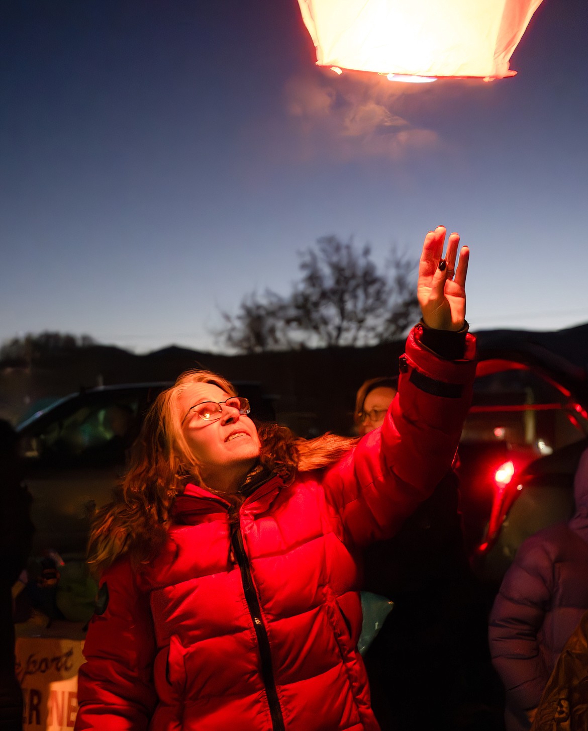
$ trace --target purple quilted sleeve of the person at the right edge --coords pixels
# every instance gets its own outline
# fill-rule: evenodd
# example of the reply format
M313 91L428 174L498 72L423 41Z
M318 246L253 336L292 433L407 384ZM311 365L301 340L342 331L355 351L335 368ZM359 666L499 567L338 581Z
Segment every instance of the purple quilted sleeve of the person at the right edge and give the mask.
M503 681L506 702L513 713L536 708L549 680L538 632L555 591L553 567L549 542L541 535L524 541L505 573L490 613L492 664Z

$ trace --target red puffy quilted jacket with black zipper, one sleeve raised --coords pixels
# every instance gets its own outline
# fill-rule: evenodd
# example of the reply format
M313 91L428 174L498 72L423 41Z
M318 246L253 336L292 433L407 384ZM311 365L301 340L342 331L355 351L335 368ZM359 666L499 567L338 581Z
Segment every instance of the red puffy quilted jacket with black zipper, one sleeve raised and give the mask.
M234 523L223 499L188 485L156 561L104 572L77 731L378 729L356 649L357 552L451 466L474 372L424 349L420 332L386 422L343 460L288 486L270 476Z

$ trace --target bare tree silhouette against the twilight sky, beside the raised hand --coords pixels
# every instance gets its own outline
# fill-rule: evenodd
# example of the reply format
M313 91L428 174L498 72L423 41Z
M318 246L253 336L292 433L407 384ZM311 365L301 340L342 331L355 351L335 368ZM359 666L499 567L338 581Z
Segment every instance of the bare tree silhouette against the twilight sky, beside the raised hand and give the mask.
M319 238L300 252L302 278L290 295L271 289L245 295L237 314L222 311L215 332L238 352L369 346L402 336L418 317L416 260L392 248L382 270L370 246Z

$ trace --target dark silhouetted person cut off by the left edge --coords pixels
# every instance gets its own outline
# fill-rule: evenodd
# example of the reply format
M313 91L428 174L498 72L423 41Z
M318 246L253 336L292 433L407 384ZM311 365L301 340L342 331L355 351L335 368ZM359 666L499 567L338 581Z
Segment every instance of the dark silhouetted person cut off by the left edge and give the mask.
M15 676L15 629L12 586L26 567L33 524L31 496L23 485L18 455L18 435L0 420L0 731L21 731L23 694Z

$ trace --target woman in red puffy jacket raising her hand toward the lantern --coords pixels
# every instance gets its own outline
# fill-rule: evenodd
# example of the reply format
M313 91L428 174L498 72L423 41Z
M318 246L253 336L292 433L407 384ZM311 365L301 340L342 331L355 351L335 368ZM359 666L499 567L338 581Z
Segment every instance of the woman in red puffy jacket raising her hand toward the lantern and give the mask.
M101 577L78 731L375 730L359 550L394 534L454 458L470 402L463 247L438 227L399 392L364 439L256 426L220 376L183 374L150 410L97 516ZM402 702L399 699L399 702Z

